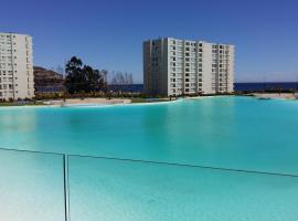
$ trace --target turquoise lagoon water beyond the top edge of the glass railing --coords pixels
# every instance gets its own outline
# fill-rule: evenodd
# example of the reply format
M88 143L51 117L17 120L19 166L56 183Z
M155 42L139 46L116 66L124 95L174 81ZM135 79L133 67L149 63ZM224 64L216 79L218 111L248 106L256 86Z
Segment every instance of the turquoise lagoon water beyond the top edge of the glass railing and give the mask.
M0 109L0 147L298 175L298 102Z

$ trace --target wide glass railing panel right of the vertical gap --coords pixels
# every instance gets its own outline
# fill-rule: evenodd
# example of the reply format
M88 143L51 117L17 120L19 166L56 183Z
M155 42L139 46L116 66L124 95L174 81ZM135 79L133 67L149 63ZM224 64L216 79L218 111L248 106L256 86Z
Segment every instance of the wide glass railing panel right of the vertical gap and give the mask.
M294 221L298 178L70 157L72 221Z

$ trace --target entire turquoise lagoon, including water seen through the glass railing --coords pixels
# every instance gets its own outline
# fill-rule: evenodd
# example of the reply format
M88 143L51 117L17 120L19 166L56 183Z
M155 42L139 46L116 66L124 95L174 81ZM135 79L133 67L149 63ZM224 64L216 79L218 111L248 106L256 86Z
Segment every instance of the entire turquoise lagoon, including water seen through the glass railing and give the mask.
M298 220L297 113L251 97L1 108L0 148L289 175L71 156L74 221ZM0 218L64 220L61 156L0 150Z

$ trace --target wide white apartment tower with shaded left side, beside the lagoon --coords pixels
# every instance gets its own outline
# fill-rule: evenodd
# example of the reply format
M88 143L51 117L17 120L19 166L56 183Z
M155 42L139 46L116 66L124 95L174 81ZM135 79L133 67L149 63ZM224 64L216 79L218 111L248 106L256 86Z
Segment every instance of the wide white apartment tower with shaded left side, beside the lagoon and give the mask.
M162 38L143 42L143 90L149 95L232 93L234 45Z

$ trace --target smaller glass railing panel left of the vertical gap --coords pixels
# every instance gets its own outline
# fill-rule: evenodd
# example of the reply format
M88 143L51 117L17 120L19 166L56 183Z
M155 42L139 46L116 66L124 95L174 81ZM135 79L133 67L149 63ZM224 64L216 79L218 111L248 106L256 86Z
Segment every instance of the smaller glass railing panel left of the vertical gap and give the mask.
M63 156L0 150L0 220L64 221Z

